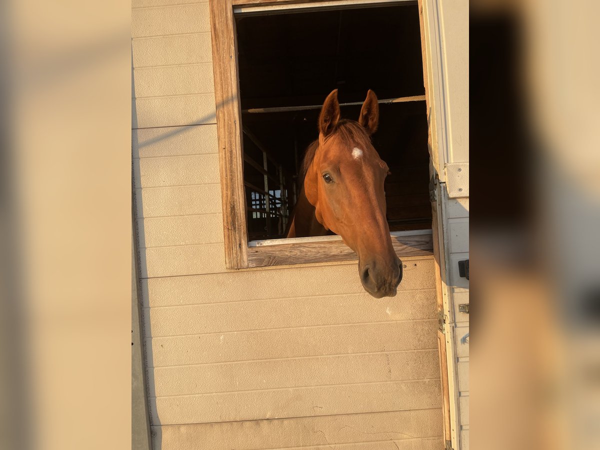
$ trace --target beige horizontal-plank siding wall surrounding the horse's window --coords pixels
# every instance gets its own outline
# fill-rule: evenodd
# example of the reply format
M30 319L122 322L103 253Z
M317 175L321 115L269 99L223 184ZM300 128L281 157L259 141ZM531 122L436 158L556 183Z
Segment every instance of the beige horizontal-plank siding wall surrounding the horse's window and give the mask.
M228 271L208 3L133 0L133 157L155 449L439 449L433 257ZM276 419L277 420L273 420Z

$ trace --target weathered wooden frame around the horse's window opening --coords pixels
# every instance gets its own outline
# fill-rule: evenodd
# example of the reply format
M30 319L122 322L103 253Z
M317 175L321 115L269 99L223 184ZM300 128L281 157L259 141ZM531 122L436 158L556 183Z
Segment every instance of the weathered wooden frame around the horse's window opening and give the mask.
M410 1L410 0L404 0ZM238 45L234 8L268 7L303 10L400 3L402 0L210 0L212 64L215 83L217 136L227 269L356 260L340 236L272 239L248 242L244 193L244 158L239 98ZM419 10L421 8L419 7ZM427 86L425 86L427 92ZM432 230L391 233L399 257L433 254Z

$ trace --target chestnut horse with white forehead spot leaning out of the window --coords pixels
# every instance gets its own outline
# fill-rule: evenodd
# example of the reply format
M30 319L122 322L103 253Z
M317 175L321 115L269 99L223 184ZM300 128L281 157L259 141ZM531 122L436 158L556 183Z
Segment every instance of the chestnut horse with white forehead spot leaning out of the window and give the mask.
M369 89L358 122L341 119L337 89L323 103L319 139L302 161L300 190L288 238L330 231L358 255L364 289L375 298L396 295L402 280L389 234L383 182L388 165L371 143L379 124L377 96Z

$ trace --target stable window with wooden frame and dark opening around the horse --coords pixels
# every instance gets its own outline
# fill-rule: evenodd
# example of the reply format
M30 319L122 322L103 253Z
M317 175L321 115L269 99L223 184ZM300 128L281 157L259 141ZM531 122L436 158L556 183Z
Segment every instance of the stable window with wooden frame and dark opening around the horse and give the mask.
M211 2L228 268L355 259L340 236L284 239L323 100L358 119L379 98L373 145L388 163L399 256L432 253L419 8L413 1Z

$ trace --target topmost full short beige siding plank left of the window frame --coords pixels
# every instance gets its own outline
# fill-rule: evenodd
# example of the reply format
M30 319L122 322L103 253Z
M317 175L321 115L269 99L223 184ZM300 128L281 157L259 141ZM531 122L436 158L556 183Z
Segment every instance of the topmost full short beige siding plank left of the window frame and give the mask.
M208 3L131 11L131 36L148 37L211 31Z

